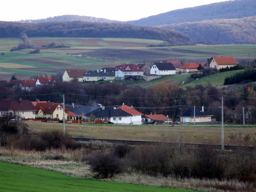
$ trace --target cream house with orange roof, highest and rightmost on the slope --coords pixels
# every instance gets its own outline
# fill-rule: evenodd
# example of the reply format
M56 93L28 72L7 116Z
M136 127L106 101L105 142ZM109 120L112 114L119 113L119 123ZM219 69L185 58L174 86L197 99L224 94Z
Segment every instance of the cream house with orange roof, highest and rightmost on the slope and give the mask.
M210 68L226 68L226 67L234 67L237 65L236 59L234 57L212 57L208 62L208 66Z

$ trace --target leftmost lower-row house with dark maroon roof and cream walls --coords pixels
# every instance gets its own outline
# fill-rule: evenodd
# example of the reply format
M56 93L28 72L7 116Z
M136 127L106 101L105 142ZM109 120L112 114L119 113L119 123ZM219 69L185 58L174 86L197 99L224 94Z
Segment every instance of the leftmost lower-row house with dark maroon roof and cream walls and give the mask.
M36 109L29 100L0 100L0 116L4 113L11 113L20 118L35 118Z

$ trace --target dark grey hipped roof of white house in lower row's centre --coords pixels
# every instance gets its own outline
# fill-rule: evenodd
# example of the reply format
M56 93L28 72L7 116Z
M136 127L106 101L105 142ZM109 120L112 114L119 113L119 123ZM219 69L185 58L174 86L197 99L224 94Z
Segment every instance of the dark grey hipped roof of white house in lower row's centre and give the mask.
M86 114L86 116L90 116L93 114L95 118L110 118L110 117L126 117L130 116L130 114L126 113L121 109L114 109L113 107L105 107L102 109L101 107Z

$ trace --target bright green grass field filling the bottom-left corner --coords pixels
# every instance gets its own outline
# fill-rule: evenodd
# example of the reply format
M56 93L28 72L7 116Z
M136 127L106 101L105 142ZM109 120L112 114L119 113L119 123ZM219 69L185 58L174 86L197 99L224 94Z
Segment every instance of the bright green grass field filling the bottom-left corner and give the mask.
M190 192L178 190L85 180L68 177L60 173L38 170L25 166L0 163L0 191L10 192Z

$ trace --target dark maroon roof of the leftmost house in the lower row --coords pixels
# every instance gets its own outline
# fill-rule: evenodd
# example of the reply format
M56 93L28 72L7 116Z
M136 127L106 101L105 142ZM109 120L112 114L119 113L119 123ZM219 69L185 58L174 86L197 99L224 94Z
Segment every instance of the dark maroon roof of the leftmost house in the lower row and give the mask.
M29 100L0 100L0 111L35 111L33 104Z

